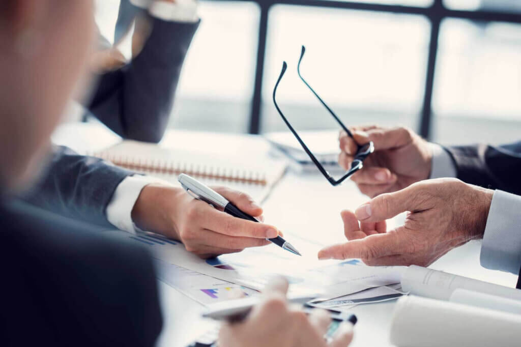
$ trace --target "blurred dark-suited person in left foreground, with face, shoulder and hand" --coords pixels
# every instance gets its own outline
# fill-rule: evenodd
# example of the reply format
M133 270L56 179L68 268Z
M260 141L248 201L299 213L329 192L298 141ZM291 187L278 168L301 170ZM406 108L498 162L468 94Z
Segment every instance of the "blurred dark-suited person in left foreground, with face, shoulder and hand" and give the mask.
M43 164L94 32L91 1L0 3L0 262L3 345L152 346L162 327L151 258L141 247L17 201ZM57 58L59 57L59 58ZM221 346L326 346L329 317L307 317L275 281ZM339 330L330 344L348 345Z

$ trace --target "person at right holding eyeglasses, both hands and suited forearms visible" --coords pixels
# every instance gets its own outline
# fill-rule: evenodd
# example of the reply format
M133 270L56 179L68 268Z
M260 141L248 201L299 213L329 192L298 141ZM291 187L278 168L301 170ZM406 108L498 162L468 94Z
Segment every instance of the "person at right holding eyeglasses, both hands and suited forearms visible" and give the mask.
M482 239L483 267L521 275L521 142L442 147L407 128L352 132L353 138L340 133L339 163L350 167L357 143L374 142L375 153L352 176L373 199L342 212L349 242L322 249L319 258L428 266ZM385 220L402 212L404 225L387 230Z

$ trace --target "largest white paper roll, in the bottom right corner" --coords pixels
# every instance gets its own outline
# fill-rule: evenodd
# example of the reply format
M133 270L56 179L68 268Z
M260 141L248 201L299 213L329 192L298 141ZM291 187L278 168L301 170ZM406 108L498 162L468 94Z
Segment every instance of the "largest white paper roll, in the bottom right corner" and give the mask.
M519 315L411 295L396 303L390 340L399 347L514 346L520 327Z

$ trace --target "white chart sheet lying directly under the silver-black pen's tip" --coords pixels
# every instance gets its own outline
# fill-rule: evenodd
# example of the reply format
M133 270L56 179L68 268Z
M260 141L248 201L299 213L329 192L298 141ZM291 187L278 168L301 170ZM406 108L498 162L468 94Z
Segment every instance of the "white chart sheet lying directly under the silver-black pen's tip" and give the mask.
M328 300L397 283L400 278L396 268L365 266L357 260L324 265L316 258L314 262L309 262L276 245L201 259L186 251L180 242L156 234L138 233L134 236L120 232L119 235L148 247L153 257L167 264L256 290L262 290L270 278L279 275L290 282L292 295L318 296L322 300Z

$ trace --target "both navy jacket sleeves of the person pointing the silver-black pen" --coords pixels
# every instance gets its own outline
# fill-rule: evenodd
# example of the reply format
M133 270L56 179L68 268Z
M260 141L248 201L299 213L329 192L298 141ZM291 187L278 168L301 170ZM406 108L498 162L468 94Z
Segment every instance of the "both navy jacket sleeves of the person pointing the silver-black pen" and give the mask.
M92 114L125 139L158 142L198 26L199 22L153 19L141 53L127 66L100 77L87 105ZM129 175L131 171L58 147L47 175L23 199L70 218L110 226L105 209L118 184Z

